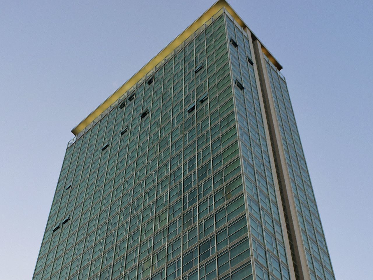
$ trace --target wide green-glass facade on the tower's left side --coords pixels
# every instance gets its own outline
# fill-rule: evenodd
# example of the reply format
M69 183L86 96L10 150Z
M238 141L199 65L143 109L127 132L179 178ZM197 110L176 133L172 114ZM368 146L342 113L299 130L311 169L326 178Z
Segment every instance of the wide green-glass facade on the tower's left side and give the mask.
M67 149L33 279L251 277L227 45L222 15Z

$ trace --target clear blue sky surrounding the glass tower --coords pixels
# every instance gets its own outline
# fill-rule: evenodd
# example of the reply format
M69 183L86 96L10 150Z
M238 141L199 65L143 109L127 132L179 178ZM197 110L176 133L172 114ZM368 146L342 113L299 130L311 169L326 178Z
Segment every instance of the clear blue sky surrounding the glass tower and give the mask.
M338 280L373 264L373 2L229 1L284 67ZM31 279L70 130L214 0L0 9L0 279Z

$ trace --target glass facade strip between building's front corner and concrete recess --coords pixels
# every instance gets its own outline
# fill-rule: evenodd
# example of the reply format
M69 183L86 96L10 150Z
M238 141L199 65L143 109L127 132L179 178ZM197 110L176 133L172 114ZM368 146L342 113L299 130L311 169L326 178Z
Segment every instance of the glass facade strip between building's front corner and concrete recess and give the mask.
M227 18L229 53L233 81L244 86L234 87L239 143L249 210L250 238L255 260L256 279L290 279L283 238L278 197L269 157L269 149L260 106L251 38Z

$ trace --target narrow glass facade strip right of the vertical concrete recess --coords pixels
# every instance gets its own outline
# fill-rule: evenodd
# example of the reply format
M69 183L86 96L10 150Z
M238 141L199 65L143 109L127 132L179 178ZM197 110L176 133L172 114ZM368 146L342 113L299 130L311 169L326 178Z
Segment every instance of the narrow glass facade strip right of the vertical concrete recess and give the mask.
M268 59L266 67L311 279L334 280L332 263L285 78L276 71Z

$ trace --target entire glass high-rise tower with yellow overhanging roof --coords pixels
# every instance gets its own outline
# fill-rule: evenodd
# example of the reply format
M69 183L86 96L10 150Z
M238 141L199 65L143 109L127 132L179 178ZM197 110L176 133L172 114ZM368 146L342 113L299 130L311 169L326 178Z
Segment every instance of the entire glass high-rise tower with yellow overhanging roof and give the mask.
M72 130L33 279L335 279L281 69L215 3Z

